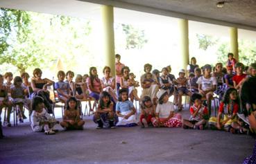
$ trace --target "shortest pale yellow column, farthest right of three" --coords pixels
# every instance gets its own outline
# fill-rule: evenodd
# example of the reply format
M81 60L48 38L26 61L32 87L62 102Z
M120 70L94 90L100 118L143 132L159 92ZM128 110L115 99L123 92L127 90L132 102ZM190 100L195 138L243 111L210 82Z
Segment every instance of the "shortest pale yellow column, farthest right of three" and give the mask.
M234 54L234 58L239 61L237 28L230 27L230 51Z

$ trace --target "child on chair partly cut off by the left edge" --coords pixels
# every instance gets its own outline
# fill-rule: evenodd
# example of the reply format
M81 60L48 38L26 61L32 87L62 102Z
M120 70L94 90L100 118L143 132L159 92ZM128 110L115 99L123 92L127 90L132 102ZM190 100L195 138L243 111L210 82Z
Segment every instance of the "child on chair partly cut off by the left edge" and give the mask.
M8 127L11 127L10 124L10 111L12 110L12 102L8 99L7 87L3 85L3 75L0 74L0 117L3 107L7 107L7 118L3 120L7 123Z

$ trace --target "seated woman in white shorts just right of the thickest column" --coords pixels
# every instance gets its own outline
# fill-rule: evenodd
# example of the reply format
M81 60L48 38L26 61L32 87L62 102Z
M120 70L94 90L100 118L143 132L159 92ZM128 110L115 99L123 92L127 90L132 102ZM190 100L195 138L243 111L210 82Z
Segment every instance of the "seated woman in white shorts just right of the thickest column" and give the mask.
M123 73L123 77L121 77L120 85L121 89L128 89L128 97L133 102L134 98L135 100L140 100L139 96L137 95L137 89L135 89L135 86L133 83L131 83L129 80L129 73L130 69L128 66L123 66L123 69L121 70Z

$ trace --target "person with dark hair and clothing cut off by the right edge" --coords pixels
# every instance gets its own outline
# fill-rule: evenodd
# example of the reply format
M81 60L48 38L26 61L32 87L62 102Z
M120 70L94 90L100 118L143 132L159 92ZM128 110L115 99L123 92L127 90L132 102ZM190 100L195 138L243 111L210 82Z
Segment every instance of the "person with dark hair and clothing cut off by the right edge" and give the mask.
M256 69L256 68L255 68ZM250 128L256 131L256 77L248 78L241 86L241 102L245 116L248 116ZM244 164L256 163L256 140L253 155L244 160Z

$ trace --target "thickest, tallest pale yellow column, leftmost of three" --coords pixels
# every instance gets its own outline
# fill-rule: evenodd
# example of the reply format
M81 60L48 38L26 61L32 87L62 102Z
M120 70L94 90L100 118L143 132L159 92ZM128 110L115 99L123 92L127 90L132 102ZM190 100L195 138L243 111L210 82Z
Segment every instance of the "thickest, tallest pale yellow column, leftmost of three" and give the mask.
M115 73L114 57L114 12L113 6L101 6L101 18L103 23L103 55L105 65L110 66L112 76Z

